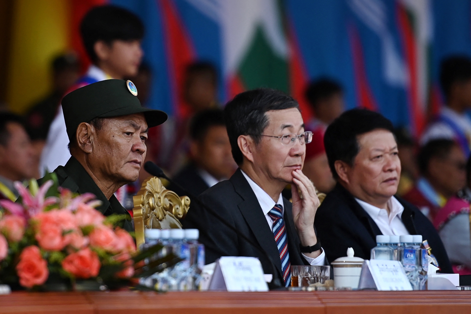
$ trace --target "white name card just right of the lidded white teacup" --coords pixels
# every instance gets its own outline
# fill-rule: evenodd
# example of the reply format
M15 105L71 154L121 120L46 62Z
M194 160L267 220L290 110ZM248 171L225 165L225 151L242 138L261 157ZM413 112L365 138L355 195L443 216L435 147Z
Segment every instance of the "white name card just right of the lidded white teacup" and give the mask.
M399 261L372 259L363 262L358 289L412 290Z

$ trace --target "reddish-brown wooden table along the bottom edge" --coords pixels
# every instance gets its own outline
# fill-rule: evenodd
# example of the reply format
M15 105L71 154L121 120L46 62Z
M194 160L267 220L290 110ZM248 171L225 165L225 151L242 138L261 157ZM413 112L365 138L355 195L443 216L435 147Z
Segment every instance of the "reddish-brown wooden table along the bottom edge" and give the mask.
M471 313L471 291L14 292L4 313L455 314Z

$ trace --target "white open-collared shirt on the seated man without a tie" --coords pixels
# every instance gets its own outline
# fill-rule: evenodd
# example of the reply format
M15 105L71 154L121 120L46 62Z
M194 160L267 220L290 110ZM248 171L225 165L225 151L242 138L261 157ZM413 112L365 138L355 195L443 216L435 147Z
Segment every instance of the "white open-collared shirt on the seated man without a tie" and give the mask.
M368 204L358 198L355 198L365 212L373 218L373 221L378 225L382 234L384 235L404 235L409 234L406 226L402 223L401 215L404 211L404 206L393 196L389 199L387 206L390 209L390 214L384 208L379 208Z

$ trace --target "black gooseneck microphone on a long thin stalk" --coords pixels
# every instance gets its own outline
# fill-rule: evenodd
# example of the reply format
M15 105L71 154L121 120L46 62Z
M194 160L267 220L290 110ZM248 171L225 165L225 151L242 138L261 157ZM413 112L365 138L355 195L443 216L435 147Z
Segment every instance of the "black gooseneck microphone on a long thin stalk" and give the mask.
M174 182L172 179L170 179L164 172L163 170L158 166L155 165L152 161L147 161L144 164L144 170L146 170L149 174L152 174L156 177L164 178L177 186L180 190L185 192L189 198L194 200L199 206L203 207L205 210L207 210L211 215L216 217L222 224L224 224L227 228L230 230L234 231L239 237L247 241L248 243L252 244L252 246L260 251L265 257L268 258L268 261L270 262L272 268L273 268L273 277L271 283L276 287L276 288L281 288L284 287L284 284L282 285L278 276L275 274L276 272L276 265L273 262L271 256L268 255L267 251L265 248L263 248L258 242L254 242L251 239L249 239L244 233L240 232L237 228L235 228L232 224L230 224L226 219L224 219L221 215L219 215L218 212L213 210L211 207L206 206L202 201L200 201L193 193L190 193L187 189L183 188L181 185L179 185L177 182ZM200 226L202 227L202 226ZM202 227L200 230L205 230L205 227Z

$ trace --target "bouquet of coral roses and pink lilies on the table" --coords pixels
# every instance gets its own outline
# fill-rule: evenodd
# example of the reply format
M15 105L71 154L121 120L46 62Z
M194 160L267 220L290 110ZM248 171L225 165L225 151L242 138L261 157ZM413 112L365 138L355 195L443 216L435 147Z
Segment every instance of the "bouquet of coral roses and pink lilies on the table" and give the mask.
M69 287L77 280L129 285L139 259L130 233L115 226L123 217L105 217L94 195L73 195L55 180L15 187L20 201L0 200L0 283L38 289L54 278Z

